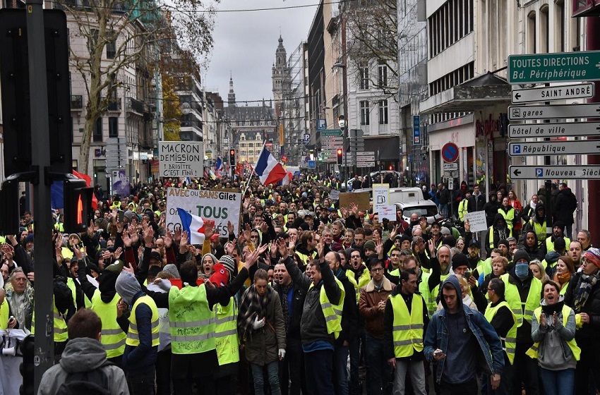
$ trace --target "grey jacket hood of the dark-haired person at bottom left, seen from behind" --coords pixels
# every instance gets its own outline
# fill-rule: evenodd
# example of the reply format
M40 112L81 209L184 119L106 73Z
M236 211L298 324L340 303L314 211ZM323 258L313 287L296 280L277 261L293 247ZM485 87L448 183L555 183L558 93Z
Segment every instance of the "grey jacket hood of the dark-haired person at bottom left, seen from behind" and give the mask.
M80 337L68 341L61 358L61 367L68 373L95 370L107 358L107 352L100 341Z

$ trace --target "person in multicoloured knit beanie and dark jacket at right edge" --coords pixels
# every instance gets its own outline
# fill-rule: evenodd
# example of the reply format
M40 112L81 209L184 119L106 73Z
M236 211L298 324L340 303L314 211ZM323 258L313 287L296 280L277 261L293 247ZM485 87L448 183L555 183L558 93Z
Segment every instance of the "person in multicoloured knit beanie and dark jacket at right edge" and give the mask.
M581 348L575 368L574 394L588 394L590 378L600 377L600 250L589 248L582 257L582 269L572 275L565 293L565 305L575 310L575 342ZM590 372L592 374L590 375Z

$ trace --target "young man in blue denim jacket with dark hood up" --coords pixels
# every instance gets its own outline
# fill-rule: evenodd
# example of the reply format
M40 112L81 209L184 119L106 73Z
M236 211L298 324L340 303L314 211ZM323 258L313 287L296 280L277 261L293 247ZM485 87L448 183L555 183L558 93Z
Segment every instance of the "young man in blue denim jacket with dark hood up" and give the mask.
M450 276L441 286L443 310L436 312L425 335L425 356L437 363L440 395L476 395L477 372L491 376L491 389L500 384L504 367L502 343L480 312L462 304L460 285ZM479 361L484 361L479 364Z

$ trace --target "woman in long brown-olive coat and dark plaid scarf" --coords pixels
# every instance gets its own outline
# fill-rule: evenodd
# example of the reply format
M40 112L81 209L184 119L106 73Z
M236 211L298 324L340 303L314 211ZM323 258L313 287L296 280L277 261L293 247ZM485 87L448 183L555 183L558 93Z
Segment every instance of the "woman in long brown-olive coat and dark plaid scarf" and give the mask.
M265 394L266 370L272 395L280 395L279 361L285 357L285 325L277 291L269 286L264 269L254 274L254 284L244 291L238 313L241 345L246 352L254 393Z

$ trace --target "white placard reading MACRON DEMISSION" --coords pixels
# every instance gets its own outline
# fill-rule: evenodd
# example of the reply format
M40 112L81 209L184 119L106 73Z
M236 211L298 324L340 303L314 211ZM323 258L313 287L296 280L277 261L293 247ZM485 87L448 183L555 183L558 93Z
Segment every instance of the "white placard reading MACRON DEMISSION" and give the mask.
M161 177L202 177L203 148L198 141L159 141Z

